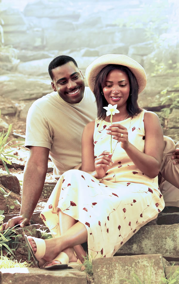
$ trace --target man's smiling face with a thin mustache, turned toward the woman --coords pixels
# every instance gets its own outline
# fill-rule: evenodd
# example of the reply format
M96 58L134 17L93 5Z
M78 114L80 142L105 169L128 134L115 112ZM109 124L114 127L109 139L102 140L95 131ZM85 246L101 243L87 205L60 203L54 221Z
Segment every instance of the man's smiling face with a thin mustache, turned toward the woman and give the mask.
M84 77L81 71L70 61L52 70L53 91L67 103L79 103L84 96Z

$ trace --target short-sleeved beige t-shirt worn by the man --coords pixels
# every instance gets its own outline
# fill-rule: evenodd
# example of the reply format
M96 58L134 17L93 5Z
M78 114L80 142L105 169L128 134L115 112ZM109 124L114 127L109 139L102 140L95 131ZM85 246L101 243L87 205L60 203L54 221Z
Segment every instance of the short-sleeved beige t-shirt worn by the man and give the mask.
M36 100L26 121L25 147L50 149L53 174L59 178L65 171L81 163L81 135L84 126L96 118L94 94L85 87L80 103L66 103L57 92Z

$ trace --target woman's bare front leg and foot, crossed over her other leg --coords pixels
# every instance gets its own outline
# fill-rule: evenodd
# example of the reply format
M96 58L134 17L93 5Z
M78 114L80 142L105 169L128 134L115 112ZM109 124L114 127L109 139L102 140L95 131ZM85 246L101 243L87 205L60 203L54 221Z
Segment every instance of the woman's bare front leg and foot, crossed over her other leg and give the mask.
M73 219L73 218L72 218ZM76 220L73 219L75 222ZM71 220L72 221L72 220ZM28 237L33 251L36 252L36 243L29 236ZM87 241L87 229L81 223L77 222L70 227L62 236L45 240L46 251L43 259L47 262L55 259L55 257L67 248L72 248Z

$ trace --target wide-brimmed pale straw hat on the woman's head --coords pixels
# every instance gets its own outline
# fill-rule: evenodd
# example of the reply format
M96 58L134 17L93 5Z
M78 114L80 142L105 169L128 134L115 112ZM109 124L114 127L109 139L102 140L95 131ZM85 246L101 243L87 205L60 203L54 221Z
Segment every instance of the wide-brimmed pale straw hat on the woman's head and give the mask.
M137 61L123 54L105 54L95 59L86 69L85 77L92 92L94 91L96 76L108 64L127 66L137 79L139 85L138 94L143 91L147 83L147 76L145 70Z

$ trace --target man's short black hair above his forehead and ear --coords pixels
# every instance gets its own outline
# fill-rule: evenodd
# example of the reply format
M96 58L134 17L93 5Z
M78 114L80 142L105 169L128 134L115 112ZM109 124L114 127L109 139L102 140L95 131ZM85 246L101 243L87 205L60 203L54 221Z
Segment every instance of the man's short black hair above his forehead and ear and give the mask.
M64 64L66 64L70 61L72 61L75 64L75 66L78 68L78 65L77 65L75 59L73 59L71 56L59 55L59 56L55 57L50 62L49 67L48 67L50 78L53 80L53 72L52 72L53 69L57 68L58 66L64 65Z

